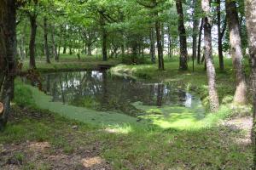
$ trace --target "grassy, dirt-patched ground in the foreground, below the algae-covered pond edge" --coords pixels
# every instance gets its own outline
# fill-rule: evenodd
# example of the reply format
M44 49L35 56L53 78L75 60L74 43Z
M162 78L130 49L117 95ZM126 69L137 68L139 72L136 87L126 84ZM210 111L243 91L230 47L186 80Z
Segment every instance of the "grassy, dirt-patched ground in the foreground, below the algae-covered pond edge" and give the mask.
M252 169L250 118L197 131L115 133L15 107L0 136L9 169Z

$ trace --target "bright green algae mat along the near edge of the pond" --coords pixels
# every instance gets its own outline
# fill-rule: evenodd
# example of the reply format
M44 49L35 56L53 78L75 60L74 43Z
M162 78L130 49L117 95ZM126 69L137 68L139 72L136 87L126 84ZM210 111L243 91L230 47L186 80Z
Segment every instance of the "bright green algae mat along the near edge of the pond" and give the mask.
M34 104L43 110L48 110L77 120L79 122L89 123L92 126L97 127L113 127L120 133L128 133L132 128L142 127L150 128L159 127L160 129L176 128L176 129L189 129L196 130L204 127L212 127L219 120L224 119L230 115L230 110L227 107L223 107L218 113L209 113L207 116L203 116L201 109L187 109L176 107L164 107L160 109L160 113L153 113L150 111L156 110L154 106L140 105L135 103L138 109L145 111L145 115L137 117L127 116L115 111L94 111L84 107L77 107L73 105L63 105L61 102L52 102L51 96L40 92L38 88L33 88L30 85L18 84L18 87L26 88L31 91ZM178 112L178 111L182 112ZM149 112L148 112L149 111ZM161 113L161 111L163 111ZM148 114L149 113L149 114ZM138 120L140 120L138 122Z

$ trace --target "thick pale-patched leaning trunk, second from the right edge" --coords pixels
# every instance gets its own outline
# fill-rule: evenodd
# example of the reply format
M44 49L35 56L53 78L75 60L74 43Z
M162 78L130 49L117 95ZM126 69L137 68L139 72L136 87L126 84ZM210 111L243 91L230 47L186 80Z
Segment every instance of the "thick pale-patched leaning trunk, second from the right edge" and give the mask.
M234 102L243 105L247 102L247 85L242 65L241 36L236 1L226 0L226 13L230 30L230 52L236 74L236 94Z

